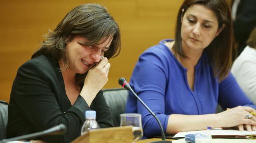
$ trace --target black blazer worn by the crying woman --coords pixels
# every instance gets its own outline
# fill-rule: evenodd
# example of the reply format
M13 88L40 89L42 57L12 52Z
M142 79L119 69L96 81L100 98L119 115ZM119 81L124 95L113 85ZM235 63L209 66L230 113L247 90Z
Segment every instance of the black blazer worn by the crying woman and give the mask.
M58 136L33 138L47 142L71 142L80 135L86 110L96 110L101 128L112 127L113 121L100 91L91 106L79 96L71 105L58 62L41 55L24 63L13 82L7 137L34 133L63 123L67 133Z

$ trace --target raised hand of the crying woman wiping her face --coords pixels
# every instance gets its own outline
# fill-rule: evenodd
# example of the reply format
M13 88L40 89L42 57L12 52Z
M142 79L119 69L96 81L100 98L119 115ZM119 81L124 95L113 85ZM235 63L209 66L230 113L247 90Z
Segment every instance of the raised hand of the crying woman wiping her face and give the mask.
M97 93L107 83L110 66L111 64L108 62L108 59L104 57L99 64L88 71L80 95L86 100L89 106Z

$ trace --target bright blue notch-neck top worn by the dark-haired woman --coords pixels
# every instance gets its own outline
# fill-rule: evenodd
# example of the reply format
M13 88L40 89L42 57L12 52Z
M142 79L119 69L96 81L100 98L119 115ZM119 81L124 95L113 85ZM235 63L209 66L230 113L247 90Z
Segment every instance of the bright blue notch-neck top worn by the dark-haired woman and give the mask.
M187 81L187 69L176 59L162 40L147 49L139 58L130 85L157 115L166 132L170 114L200 115L238 105L251 106L252 101L243 93L230 73L222 82L214 77L207 54L203 53L195 66L194 91ZM140 113L144 136L160 135L160 127L154 117L129 93L126 113Z

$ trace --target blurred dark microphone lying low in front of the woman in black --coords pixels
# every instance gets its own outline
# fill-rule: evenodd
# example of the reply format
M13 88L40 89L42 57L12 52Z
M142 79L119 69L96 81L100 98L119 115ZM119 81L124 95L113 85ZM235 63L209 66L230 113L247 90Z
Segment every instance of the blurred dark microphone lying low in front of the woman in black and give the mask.
M18 137L13 137L13 138L8 138L8 139L3 139L3 140L0 140L0 143L15 141L15 140L16 141L23 140L23 139L27 139L27 138L34 138L34 137L43 136L43 135L62 135L66 132L67 132L67 127L64 124L59 124L57 126L54 126L47 130L44 130L44 131L31 133L31 134L27 134L27 135L22 135L22 136L18 136Z

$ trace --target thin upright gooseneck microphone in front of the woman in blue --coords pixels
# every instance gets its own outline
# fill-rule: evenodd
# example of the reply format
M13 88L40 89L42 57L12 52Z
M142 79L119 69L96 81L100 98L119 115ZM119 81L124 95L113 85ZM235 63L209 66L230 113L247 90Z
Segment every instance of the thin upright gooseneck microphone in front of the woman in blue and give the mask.
M156 114L141 100L141 98L134 92L134 90L131 88L131 86L129 85L129 83L126 81L125 78L121 77L119 79L119 84L124 87L125 89L127 89L128 91L132 92L135 97L141 102L141 104L150 112L150 114L157 120L158 125L160 126L161 129L161 136L162 136L162 140L161 141L154 141L154 143L164 143L164 142L172 142L172 141L167 141L165 139L165 133L164 133L164 129L162 124L160 123L159 119L157 118ZM152 142L153 143L153 142Z

